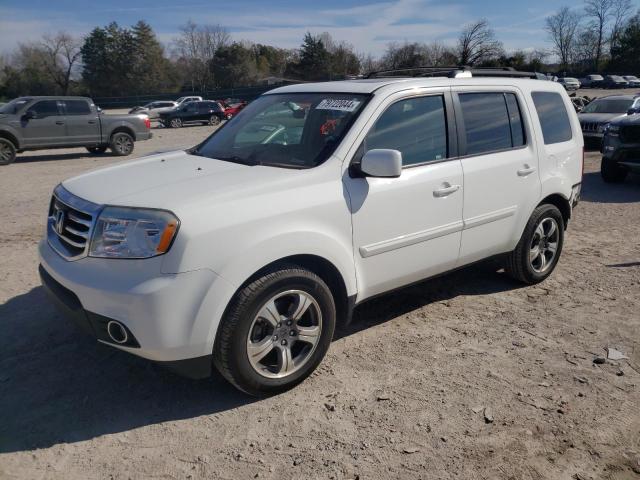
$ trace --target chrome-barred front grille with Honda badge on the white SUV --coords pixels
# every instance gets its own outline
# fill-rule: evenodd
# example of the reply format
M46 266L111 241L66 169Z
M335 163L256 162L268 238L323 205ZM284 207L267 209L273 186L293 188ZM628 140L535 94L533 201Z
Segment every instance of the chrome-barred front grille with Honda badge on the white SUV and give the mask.
M69 193L62 185L53 192L47 221L49 245L67 260L88 254L95 219L101 206Z

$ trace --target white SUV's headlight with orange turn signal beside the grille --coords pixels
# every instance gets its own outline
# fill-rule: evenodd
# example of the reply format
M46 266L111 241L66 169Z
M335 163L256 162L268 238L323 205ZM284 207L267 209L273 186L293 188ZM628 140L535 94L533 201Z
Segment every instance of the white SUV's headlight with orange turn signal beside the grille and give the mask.
M166 210L106 207L91 237L90 257L149 258L169 250L180 221Z

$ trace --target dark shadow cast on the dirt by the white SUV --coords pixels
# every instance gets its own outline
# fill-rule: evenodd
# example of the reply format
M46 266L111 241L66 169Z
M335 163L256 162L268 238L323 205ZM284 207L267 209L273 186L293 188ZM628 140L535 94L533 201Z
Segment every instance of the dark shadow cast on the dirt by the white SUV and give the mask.
M431 302L518 286L495 264L478 264L366 302L337 336ZM217 374L184 379L96 343L57 313L41 287L0 305L0 319L0 452L73 443L256 401Z

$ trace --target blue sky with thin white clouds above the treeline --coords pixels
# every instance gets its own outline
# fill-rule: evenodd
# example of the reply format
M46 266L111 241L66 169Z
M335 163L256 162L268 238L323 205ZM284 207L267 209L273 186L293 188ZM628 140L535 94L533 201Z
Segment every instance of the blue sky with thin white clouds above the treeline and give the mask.
M580 0L0 0L0 51L44 33L76 35L112 20L151 24L167 45L192 19L221 24L234 39L296 47L304 33L329 32L356 50L380 55L392 41L455 43L462 26L486 17L508 50L548 47L544 18ZM634 0L637 9L640 0Z

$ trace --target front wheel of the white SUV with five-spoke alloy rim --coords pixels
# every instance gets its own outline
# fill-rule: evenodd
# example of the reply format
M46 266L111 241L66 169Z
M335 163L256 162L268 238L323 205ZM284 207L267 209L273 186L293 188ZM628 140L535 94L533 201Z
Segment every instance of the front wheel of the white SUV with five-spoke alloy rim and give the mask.
M222 321L213 358L240 390L272 395L308 377L335 328L331 290L314 273L291 266L240 290Z

